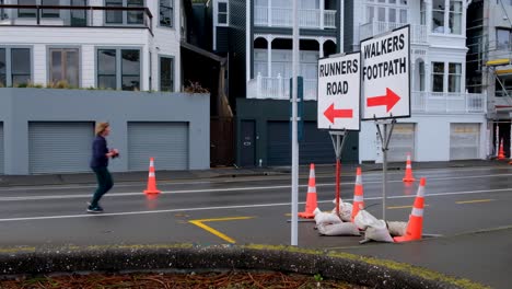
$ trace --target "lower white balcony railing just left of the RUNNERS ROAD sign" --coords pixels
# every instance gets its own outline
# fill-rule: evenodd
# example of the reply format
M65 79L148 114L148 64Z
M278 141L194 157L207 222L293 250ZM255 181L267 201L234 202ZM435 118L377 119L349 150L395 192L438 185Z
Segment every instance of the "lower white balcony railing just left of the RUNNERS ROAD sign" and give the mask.
M304 100L316 101L316 79L304 79ZM256 79L249 81L247 94L249 99L289 100L290 78L282 78L280 74L268 78L258 73Z

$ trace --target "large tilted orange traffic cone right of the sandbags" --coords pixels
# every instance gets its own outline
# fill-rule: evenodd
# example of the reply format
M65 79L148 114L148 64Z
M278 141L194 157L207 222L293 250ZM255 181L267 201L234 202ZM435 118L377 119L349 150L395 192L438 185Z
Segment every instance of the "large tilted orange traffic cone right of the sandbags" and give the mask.
M414 240L421 240L421 231L423 230L423 208L424 208L424 185L427 181L424 177L420 180L420 186L418 187L418 194L416 195L415 205L409 216L409 222L407 223L406 234L403 236L395 236L395 242L407 242Z

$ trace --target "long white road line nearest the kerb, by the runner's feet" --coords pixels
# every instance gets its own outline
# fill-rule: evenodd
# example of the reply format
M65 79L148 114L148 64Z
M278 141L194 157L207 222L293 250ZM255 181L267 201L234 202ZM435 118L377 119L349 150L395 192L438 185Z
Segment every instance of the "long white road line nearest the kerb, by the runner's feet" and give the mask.
M429 197L442 197L453 195L473 195L473 194L485 194L485 193L504 193L512 192L512 188L499 188L499 189L487 189L487 190L466 190L466 192L447 192L447 193L434 193L426 195ZM416 196L389 196L388 199L402 199L402 198L415 198ZM366 200L382 199L382 197L370 197L364 198ZM352 199L344 199L352 200ZM333 200L318 200L317 203L333 203ZM299 204L304 204L301 201ZM0 222L15 222L15 221L38 221L38 220L55 220L55 219L74 219L74 218L100 218L107 216L135 216L135 215L154 215L165 212L179 212L179 211L203 211L203 210L226 210L226 209L251 209L251 208L263 208L263 207L280 207L291 206L291 203L275 203L275 204L256 204L256 205L238 205L238 206L222 206L222 207L197 207L197 208L182 208L182 209L167 209L167 210L151 210L151 211L124 211L124 212L106 212L106 213L81 213L81 215L61 215L61 216L42 216L42 217L23 217L23 218L7 218L0 219Z

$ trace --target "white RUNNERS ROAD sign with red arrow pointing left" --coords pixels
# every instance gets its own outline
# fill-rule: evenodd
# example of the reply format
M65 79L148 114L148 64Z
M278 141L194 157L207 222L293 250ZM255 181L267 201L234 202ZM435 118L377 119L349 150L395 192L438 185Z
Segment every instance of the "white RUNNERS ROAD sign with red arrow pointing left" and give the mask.
M361 54L318 60L319 129L360 129Z

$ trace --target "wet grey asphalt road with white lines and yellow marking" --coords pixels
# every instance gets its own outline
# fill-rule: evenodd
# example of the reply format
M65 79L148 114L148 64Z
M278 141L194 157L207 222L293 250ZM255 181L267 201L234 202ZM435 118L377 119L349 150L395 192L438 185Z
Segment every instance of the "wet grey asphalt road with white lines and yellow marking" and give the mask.
M317 169L316 173L318 207L323 210L334 208L335 177L329 170ZM319 236L314 223L301 222L299 245L396 259L507 288L502 286L512 281L507 274L512 268L512 241L508 241L512 240L512 169L417 170L415 176L427 177L423 233L443 238L360 245L360 236ZM386 218L391 221L407 220L416 195L418 182L405 185L402 178L403 172L389 172ZM346 201L352 199L353 182L352 174L341 177ZM155 198L141 193L146 184L116 184L102 200L103 215L85 213L94 184L0 188L0 244L289 244L290 183L289 175L159 182L162 194ZM306 175L302 175L300 185L303 210ZM381 217L381 173L363 172L363 185L369 211ZM482 230L486 232L472 233ZM497 257L485 257L492 254ZM490 271L480 268L486 262L486 268L496 262L503 264L498 267L501 270ZM474 268L467 268L472 263Z

